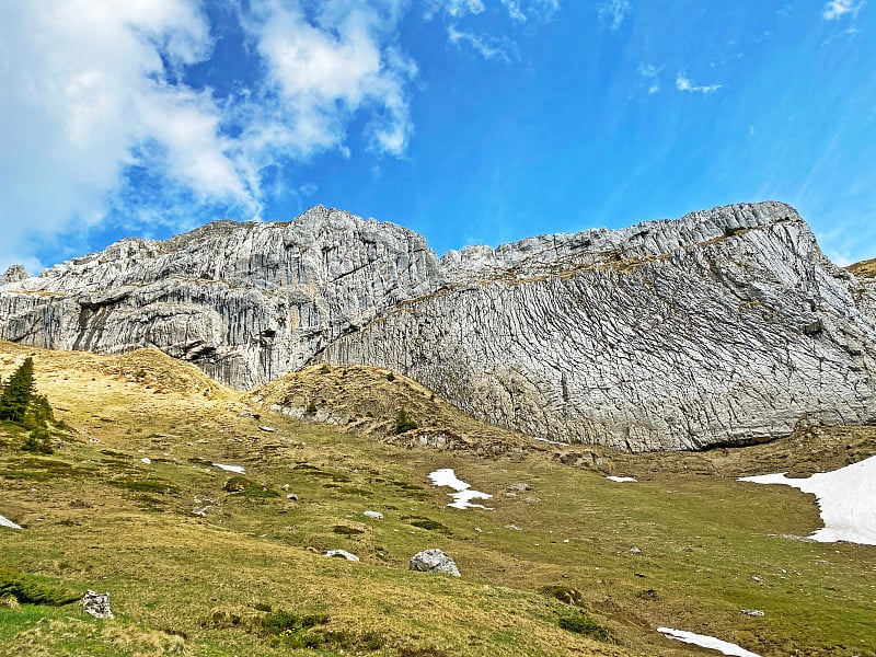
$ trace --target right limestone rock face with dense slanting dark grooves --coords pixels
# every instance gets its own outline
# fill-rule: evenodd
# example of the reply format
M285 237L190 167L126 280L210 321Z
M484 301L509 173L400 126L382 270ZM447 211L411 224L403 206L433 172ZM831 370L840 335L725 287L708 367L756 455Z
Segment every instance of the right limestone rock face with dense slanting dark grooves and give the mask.
M441 264L449 285L324 357L404 372L485 422L632 451L874 419L869 290L783 204L472 247Z

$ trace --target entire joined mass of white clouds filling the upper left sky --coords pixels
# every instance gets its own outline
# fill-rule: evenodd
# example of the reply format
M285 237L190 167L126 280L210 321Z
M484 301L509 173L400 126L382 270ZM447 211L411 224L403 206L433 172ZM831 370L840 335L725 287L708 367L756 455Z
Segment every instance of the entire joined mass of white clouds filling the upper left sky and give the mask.
M356 117L371 150L403 154L417 72L396 46L407 0L302 7L314 5L240 10L262 77L217 97L181 82L212 55L199 0L0 3L0 268L34 272L39 247L111 217L140 233L187 226L206 207L258 218L265 168L349 153Z

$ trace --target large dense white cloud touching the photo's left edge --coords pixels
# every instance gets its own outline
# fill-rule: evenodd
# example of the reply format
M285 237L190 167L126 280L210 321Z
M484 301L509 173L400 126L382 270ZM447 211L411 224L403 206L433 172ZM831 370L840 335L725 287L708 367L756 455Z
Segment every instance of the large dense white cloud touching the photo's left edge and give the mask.
M33 266L36 243L99 223L131 165L254 207L210 92L168 83L210 51L196 2L4 2L0 36L0 262Z

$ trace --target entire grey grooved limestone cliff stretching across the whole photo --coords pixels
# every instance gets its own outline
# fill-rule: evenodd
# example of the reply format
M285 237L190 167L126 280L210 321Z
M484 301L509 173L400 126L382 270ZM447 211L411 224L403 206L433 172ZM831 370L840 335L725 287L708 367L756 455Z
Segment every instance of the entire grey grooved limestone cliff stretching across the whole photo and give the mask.
M125 240L0 287L0 337L155 346L235 388L387 367L479 419L633 451L876 419L873 281L780 203L451 251L315 207Z

